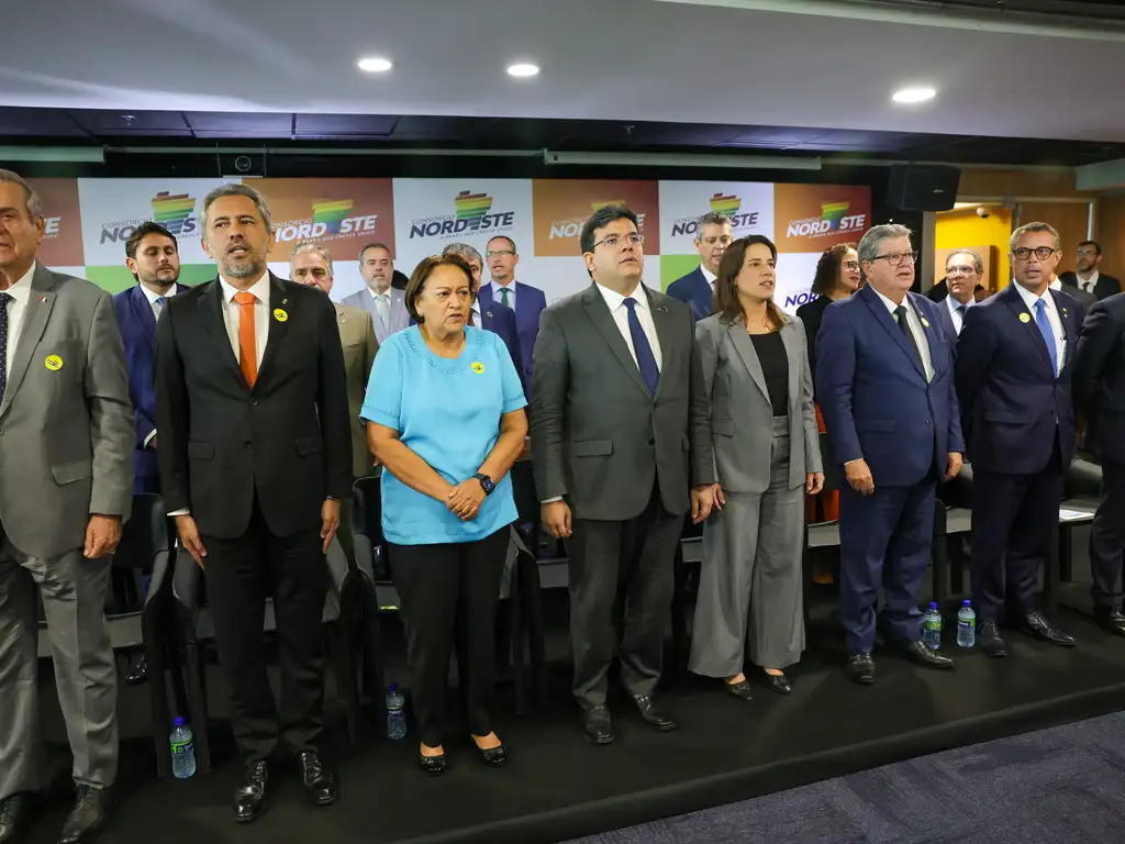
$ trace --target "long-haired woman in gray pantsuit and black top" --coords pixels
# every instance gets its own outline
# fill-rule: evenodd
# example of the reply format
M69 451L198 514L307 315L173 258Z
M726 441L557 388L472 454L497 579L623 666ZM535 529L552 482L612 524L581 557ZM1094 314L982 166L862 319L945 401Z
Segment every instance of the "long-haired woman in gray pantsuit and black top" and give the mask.
M703 529L690 667L750 699L744 661L788 694L783 668L804 649L804 495L824 486L801 321L773 302L777 250L760 235L727 248L717 312L696 323L711 398L722 509Z

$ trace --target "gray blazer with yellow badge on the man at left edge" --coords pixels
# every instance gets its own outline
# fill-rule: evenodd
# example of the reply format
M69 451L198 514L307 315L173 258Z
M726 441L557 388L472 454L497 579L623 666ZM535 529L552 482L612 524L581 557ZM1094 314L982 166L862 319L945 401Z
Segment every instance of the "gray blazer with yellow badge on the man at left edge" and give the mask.
M0 513L17 549L81 548L91 513L128 518L133 404L109 294L36 264L0 403Z

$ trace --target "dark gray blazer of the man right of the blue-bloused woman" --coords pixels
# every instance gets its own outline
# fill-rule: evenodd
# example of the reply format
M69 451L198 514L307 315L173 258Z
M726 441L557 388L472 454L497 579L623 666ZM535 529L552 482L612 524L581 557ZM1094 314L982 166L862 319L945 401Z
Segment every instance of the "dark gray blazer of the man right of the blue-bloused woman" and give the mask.
M576 519L640 515L659 483L682 515L690 487L714 483L703 374L687 305L650 290L660 340L652 396L595 285L540 314L531 394L539 500L564 496Z

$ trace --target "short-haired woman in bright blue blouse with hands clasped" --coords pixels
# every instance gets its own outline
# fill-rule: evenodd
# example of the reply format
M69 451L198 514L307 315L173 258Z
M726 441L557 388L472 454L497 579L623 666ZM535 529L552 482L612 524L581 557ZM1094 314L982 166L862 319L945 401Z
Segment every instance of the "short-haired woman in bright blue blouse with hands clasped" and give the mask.
M503 341L469 324L472 276L457 255L426 258L406 286L417 324L379 347L361 416L382 464L382 532L402 598L418 763L446 770L446 679L454 644L468 726L482 758L506 762L492 728L495 617L516 519L508 470L528 402Z

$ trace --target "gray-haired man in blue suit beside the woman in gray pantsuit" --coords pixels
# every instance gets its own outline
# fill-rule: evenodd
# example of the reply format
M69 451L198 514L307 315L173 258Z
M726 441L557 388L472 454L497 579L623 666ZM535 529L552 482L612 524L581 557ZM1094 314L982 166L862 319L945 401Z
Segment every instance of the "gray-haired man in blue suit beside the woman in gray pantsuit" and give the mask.
M825 428L847 475L839 523L848 674L872 683L880 585L888 638L917 663L953 667L919 641L918 590L937 483L961 470L964 443L940 305L910 293L918 258L910 230L875 226L858 252L867 285L825 311L816 372Z

